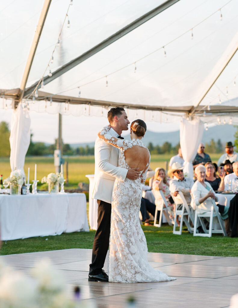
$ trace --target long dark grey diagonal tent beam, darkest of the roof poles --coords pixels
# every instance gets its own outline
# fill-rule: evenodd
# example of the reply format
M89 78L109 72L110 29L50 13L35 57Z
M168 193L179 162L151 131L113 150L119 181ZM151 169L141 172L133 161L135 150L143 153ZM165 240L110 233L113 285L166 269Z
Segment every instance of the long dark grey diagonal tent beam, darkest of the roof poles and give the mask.
M116 33L114 33L113 35L109 36L109 38L105 39L104 41L102 41L98 45L96 45L93 48L91 48L90 50L86 51L85 53L83 53L79 57L73 59L72 61L68 62L67 64L64 64L58 70L54 71L52 73L51 77L50 76L44 77L44 83L47 84L47 83L51 82L52 80L54 80L55 78L59 77L60 75L66 73L69 70L71 70L76 65L82 63L86 59L90 58L92 55L95 55L97 52L101 51L105 47L109 46L110 44L114 43L115 41L117 41L118 39L123 37L124 35L131 32L132 30L141 26L143 23L147 22L148 20L150 20L154 16L158 15L162 11L166 10L170 6L174 5L178 1L180 1L180 0L167 0L164 3L162 3L161 5L157 6L153 10L151 10L150 12L148 12L148 13L144 14L143 16L137 18L136 20L131 22L129 25L125 26L121 30L119 30ZM31 94L31 92L35 89L35 87L37 86L38 83L39 83L39 80L37 82L35 82L32 86L27 88L24 96L26 97L29 94ZM41 87L41 84L39 84L37 88L39 89L40 87Z

